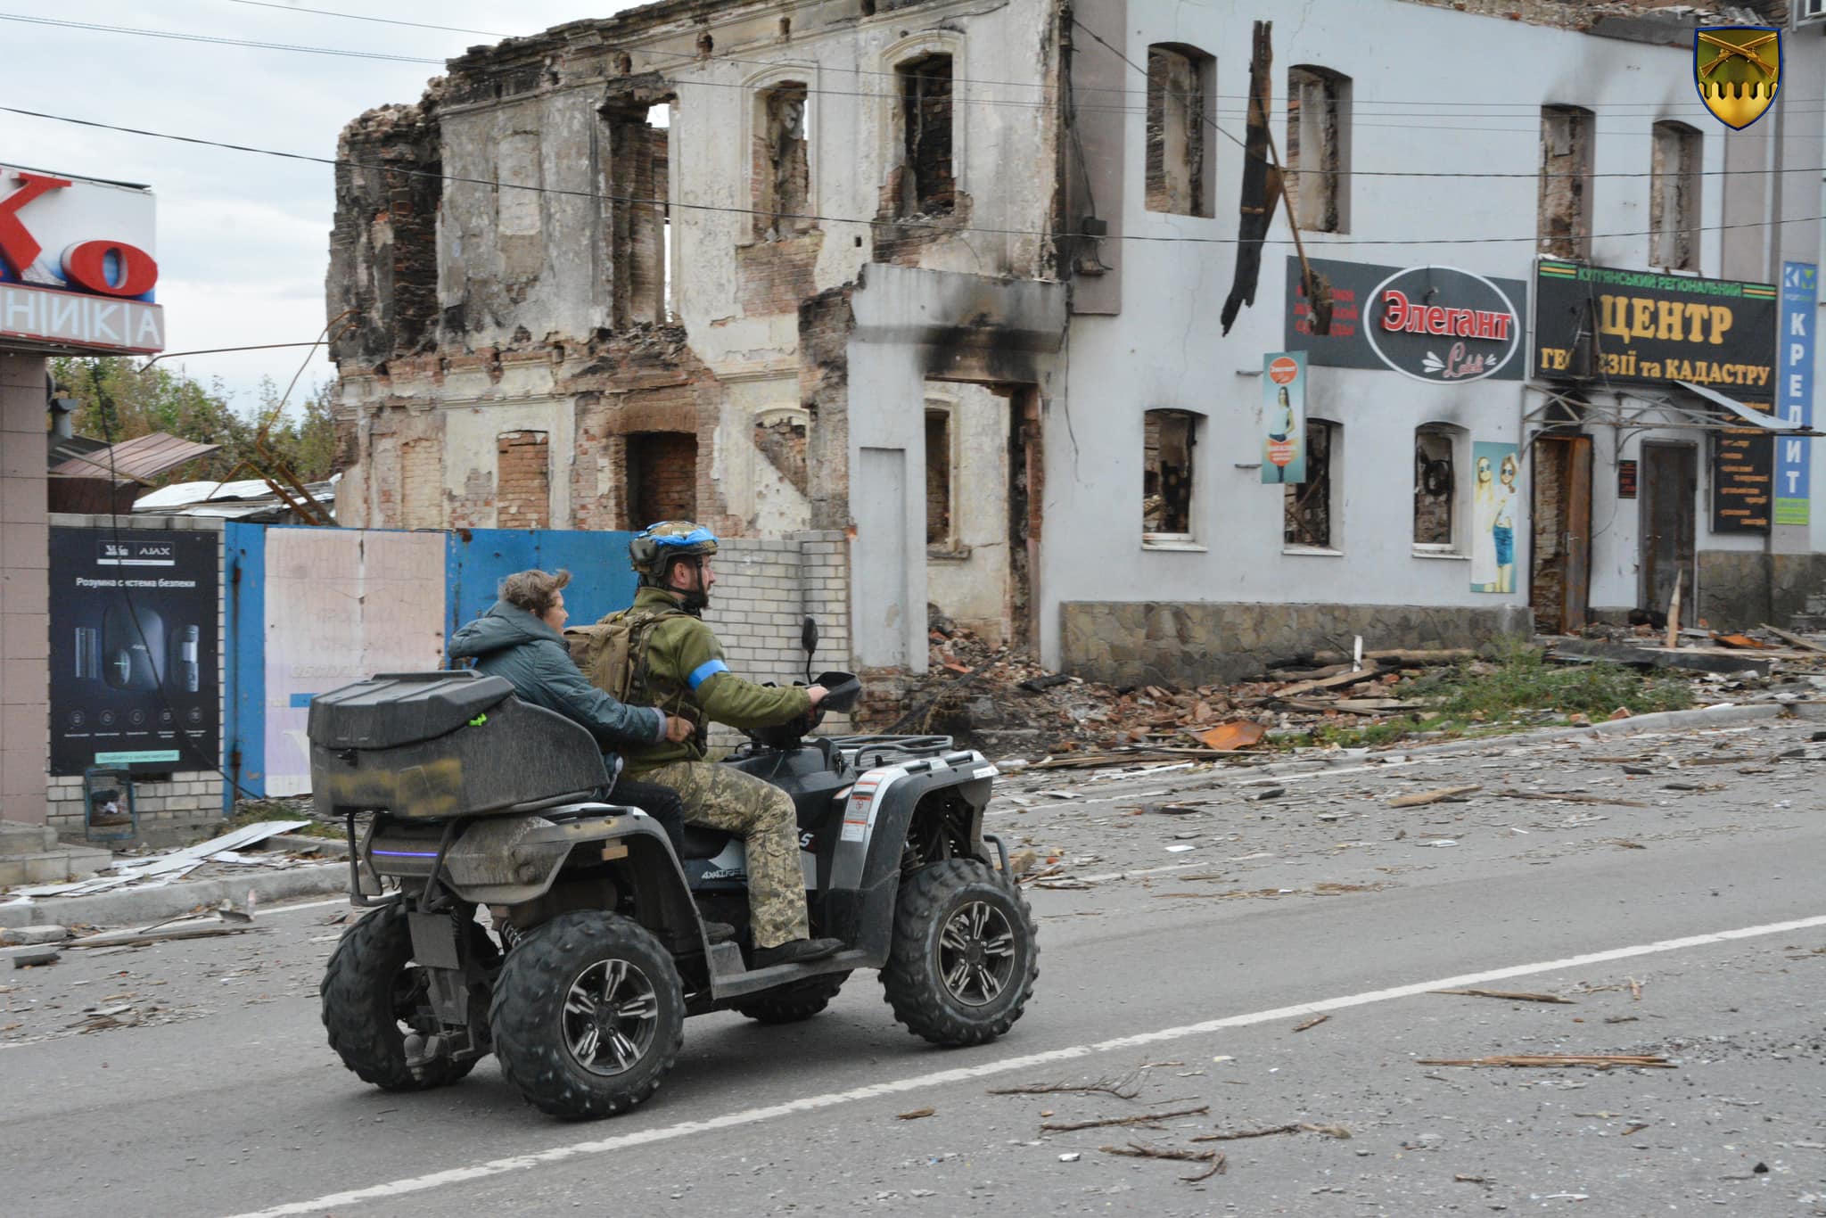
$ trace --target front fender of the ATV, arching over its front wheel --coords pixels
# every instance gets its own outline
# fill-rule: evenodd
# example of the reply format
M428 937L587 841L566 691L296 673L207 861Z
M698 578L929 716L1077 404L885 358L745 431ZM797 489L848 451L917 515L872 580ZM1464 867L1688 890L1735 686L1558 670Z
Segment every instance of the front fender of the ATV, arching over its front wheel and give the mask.
M920 802L955 789L970 807L968 840L975 856L995 860L982 842L982 809L999 771L981 752L882 765L856 778L844 803L844 824L825 893L825 933L867 953L867 966L887 961L895 897L908 829Z

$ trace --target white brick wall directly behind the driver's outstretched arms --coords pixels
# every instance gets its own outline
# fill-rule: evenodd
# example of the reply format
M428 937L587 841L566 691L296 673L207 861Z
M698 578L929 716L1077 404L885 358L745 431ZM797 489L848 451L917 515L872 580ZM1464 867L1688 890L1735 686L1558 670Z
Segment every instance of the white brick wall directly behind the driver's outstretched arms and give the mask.
M703 619L716 630L729 668L749 681L792 685L805 679L800 626L818 619L813 676L849 670L849 542L836 530L794 533L785 541L727 539L716 551L716 592ZM849 730L849 716L827 716L824 734ZM712 749L741 743L741 732L716 727Z

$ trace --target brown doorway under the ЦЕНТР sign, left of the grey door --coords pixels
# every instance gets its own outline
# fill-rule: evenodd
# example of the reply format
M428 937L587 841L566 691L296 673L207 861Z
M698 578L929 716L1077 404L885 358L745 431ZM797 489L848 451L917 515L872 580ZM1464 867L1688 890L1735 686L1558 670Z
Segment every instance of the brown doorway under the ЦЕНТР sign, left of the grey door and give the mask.
M1543 630L1585 625L1592 583L1592 438L1534 442L1534 566L1528 601Z

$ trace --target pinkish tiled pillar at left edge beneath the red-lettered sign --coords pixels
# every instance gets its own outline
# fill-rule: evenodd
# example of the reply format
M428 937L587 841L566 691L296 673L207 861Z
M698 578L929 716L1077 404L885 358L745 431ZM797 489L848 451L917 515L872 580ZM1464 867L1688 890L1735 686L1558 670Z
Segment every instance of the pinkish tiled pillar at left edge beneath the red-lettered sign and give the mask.
M44 824L51 745L44 356L0 354L0 820Z

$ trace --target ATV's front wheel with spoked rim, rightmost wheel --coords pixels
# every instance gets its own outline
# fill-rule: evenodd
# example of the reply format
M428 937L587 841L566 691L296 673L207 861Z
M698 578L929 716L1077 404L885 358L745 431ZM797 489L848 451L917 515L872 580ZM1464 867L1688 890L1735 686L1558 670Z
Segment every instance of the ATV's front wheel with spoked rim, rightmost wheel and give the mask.
M933 1045L986 1045L1034 993L1039 944L1021 893L968 858L900 884L882 990L895 1019Z

